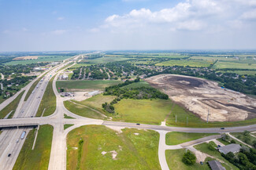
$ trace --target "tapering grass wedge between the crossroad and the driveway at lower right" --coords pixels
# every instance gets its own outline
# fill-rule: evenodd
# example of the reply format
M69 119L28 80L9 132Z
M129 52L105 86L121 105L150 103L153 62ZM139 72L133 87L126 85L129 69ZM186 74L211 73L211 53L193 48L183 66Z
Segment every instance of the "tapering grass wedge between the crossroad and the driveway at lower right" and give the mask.
M168 132L165 136L165 143L167 145L177 145L186 143L191 140L204 138L206 136L216 135L214 133L187 133L187 132Z

